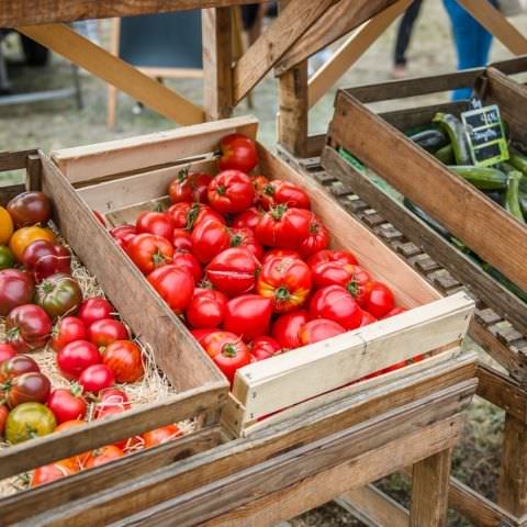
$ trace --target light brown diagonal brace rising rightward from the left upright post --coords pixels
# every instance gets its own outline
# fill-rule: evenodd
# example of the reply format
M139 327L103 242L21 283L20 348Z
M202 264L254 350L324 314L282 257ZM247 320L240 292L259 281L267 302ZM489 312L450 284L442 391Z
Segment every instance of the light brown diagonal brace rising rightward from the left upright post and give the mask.
M234 102L237 104L283 54L339 0L291 0L279 16L247 49L234 67ZM346 3L343 0L340 3Z

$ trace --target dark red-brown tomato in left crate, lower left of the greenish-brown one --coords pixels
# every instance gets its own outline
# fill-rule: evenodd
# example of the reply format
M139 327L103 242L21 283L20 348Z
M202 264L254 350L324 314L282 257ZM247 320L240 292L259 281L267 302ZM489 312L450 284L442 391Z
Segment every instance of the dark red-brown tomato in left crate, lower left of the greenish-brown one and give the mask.
M42 348L53 325L49 315L38 305L19 305L5 318L8 344L19 354Z

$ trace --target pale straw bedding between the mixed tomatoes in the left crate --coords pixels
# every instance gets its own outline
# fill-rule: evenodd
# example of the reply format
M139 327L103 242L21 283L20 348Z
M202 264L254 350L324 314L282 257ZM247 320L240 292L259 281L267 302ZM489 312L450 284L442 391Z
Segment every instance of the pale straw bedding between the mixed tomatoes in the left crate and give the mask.
M60 236L58 229L52 222L49 222L49 227L57 236L57 240L61 245L66 246L71 253L71 274L79 282L79 285L82 290L82 298L88 299L90 296L104 296L104 291L99 285L97 278L90 274L86 267L82 266L80 260L71 250L71 247L69 247L67 242ZM119 313L115 313L114 315L119 317ZM124 323L124 321L121 322ZM127 329L130 334L133 335L133 333L130 330L130 327L127 327ZM4 338L5 324L4 319L0 317L0 341L3 341ZM141 348L145 374L137 382L116 384L117 388L121 388L126 392L132 406L137 406L142 403L165 401L170 395L177 393L165 373L157 367L150 346L142 343L135 337L132 337L132 339ZM69 381L60 374L55 359L56 352L49 344L47 344L44 348L31 351L29 355L36 360L42 372L49 378L53 389L68 388ZM86 416L87 421L91 421L93 418L94 406L94 402L89 403ZM195 428L195 422L193 419L188 419L182 423L178 423L178 426L183 435L190 434ZM9 448L9 444L2 442L0 439L0 449L3 448ZM0 497L25 490L29 487L29 483L30 473L7 478L0 481Z

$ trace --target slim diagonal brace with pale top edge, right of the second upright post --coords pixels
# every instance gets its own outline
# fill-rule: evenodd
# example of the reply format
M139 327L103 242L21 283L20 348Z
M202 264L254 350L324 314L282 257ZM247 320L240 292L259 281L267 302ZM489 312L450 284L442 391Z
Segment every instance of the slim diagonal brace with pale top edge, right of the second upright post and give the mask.
M310 108L322 99L411 3L412 0L399 0L384 11L375 14L346 40L330 60L310 79L307 93Z

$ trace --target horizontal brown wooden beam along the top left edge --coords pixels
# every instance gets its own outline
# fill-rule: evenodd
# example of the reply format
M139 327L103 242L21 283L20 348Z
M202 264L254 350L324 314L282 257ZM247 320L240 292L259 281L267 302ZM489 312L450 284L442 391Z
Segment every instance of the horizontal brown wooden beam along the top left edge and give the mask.
M2 0L0 27L109 19L189 9L224 8L266 0Z

